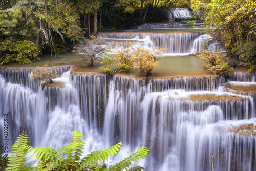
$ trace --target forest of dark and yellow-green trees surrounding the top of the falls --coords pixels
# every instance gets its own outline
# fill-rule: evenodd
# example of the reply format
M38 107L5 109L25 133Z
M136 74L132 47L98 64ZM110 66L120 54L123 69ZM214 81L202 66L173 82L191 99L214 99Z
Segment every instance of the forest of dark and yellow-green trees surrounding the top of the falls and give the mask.
M255 68L253 0L1 0L0 60L31 63L40 53L58 56L98 31L167 22L172 8L203 11L191 20L203 17L207 32L223 43L228 55Z

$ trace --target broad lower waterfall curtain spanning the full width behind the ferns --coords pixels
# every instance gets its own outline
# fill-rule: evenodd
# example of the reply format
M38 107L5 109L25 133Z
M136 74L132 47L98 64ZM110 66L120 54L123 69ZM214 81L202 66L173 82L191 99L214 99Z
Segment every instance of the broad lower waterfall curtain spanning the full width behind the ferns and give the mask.
M25 129L32 146L60 148L78 126L86 138L84 153L120 141L121 156L146 146L150 154L139 164L150 171L211 170L218 151L224 156L215 156L215 170L256 169L256 137L233 131L256 125L255 101L220 90L224 78L151 79L146 86L144 79L71 74L71 69L56 68L55 80L63 88L40 87L30 78L31 70L0 70L0 131L7 113L9 145ZM231 74L230 79L243 76ZM246 77L252 81L254 73Z

